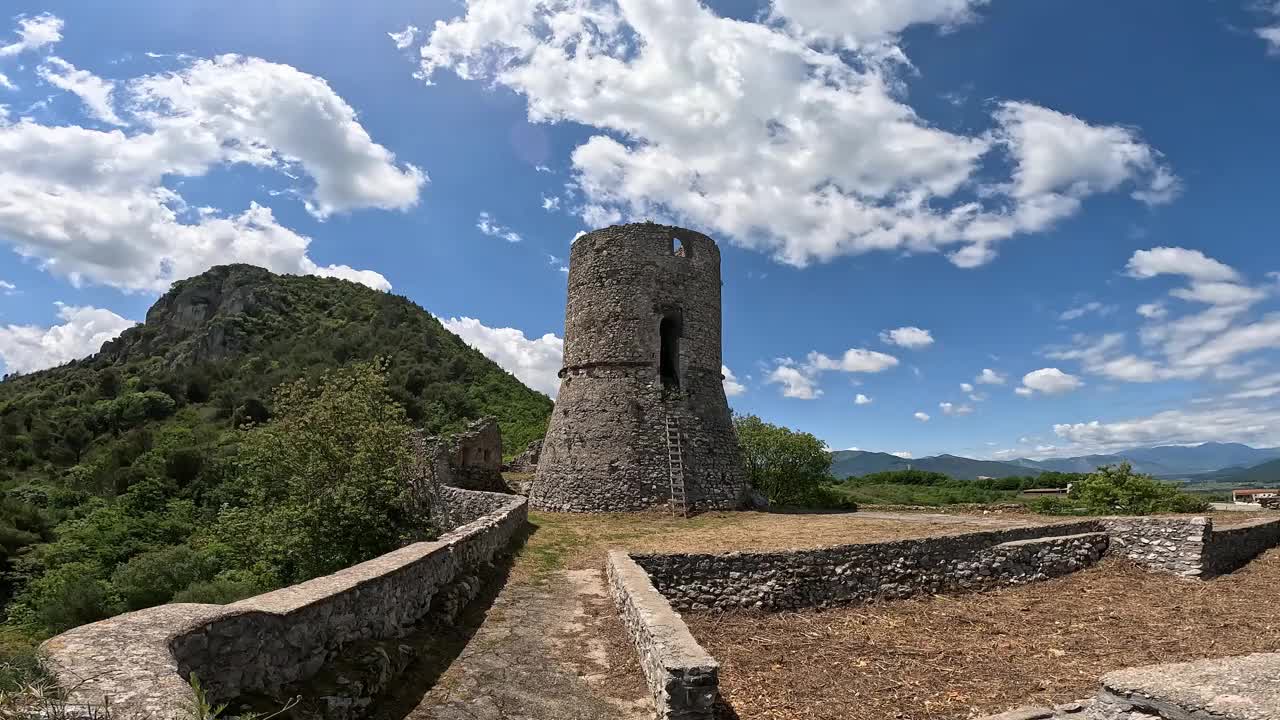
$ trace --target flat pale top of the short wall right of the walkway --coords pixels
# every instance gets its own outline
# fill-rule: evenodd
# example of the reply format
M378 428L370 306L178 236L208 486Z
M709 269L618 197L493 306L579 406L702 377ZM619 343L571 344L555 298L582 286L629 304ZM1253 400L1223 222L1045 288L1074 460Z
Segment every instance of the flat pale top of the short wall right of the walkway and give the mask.
M609 573L628 593L636 612L645 624L645 630L653 638L662 666L673 671L700 670L703 673L719 669L719 662L694 639L684 619L676 612L667 598L653 587L649 573L645 573L625 551L614 550L608 556Z

